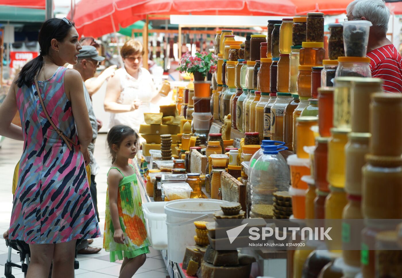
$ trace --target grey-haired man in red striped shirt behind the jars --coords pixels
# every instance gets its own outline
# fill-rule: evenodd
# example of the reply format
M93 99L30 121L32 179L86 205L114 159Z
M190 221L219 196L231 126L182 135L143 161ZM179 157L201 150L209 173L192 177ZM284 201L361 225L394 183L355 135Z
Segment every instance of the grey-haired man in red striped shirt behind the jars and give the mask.
M348 20L368 20L370 27L367 57L371 59L371 76L384 80L386 92L402 92L402 57L387 39L390 10L382 0L355 0L347 8Z

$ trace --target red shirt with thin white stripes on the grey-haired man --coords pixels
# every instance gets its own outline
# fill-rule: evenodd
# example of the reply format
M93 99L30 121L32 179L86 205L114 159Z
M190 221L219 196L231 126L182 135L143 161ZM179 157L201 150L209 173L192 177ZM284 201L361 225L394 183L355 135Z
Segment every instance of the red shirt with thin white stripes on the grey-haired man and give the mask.
M379 47L367 53L371 59L371 76L384 80L386 92L402 92L402 56L393 44Z

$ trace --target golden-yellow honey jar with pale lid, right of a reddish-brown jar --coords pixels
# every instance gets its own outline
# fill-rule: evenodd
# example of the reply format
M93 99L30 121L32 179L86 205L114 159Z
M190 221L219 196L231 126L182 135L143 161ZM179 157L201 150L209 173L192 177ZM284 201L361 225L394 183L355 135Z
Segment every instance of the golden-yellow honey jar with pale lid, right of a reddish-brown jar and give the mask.
M345 145L350 129L331 129L328 141L327 181L335 187L345 187Z

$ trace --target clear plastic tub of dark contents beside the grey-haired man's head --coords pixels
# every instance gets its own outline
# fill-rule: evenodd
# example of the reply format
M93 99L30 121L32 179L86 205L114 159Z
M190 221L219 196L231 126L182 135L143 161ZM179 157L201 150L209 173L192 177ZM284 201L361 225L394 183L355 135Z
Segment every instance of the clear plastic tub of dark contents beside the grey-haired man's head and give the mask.
M368 20L350 20L343 24L343 43L346 56L366 57L370 27Z

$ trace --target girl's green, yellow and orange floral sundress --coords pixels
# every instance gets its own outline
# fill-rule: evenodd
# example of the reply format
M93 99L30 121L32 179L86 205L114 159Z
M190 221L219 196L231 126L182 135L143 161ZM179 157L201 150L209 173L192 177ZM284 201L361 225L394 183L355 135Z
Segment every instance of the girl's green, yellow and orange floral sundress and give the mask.
M133 168L131 164L129 165ZM137 175L124 176L119 168L111 167L110 169L117 169L123 176L117 193L117 209L119 210L120 226L125 236L125 244L117 243L113 239L115 229L110 215L109 186L106 191L103 248L110 252L110 261L115 262L116 258L123 260L123 257L134 258L138 255L149 253L148 246L150 246L150 242L145 228Z

